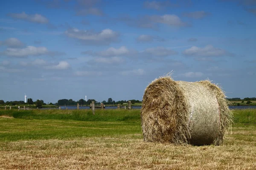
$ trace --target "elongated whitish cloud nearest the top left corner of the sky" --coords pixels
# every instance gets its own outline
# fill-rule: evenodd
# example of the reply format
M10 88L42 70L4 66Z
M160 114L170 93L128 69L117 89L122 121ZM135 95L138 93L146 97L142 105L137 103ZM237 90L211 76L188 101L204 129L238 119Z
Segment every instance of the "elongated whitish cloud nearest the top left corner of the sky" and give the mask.
M26 14L25 12L22 13L11 13L9 14L10 17L20 20L26 20L32 23L48 23L48 19L41 14Z

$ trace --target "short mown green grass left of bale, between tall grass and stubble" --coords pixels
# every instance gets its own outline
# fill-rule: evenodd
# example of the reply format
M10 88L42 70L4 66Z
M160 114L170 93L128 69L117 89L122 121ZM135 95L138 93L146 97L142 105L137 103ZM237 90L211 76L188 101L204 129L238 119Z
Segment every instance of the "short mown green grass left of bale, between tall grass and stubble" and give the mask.
M117 135L132 135L140 132L140 122L0 118L0 141L116 137Z

